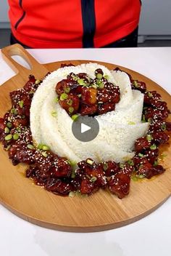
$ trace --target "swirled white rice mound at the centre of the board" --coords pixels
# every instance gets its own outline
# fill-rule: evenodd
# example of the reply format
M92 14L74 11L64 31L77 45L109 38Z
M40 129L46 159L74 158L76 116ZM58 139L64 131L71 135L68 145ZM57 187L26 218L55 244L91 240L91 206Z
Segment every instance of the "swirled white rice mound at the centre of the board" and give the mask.
M99 135L90 142L80 142L72 134L72 119L55 102L55 87L71 72L88 73L95 78L94 71L101 68L108 80L120 87L120 102L115 111L96 116ZM30 108L30 129L35 143L49 145L51 151L71 161L92 158L97 163L114 160L124 162L134 156L134 143L146 134L149 124L141 123L143 94L132 90L127 73L109 71L103 65L88 63L76 67L59 68L52 72L38 87ZM57 113L52 116L51 113Z

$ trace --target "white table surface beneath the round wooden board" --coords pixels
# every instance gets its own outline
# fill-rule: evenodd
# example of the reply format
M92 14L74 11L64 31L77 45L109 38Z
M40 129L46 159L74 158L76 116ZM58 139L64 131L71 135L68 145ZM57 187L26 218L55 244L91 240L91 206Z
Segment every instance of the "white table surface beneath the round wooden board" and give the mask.
M148 76L171 92L171 47L138 49L30 49L40 63L99 60ZM0 84L14 76L0 54ZM1 177L0 177L1 178ZM0 205L0 254L3 256L170 256L171 198L135 223L99 233L52 231L16 217Z

